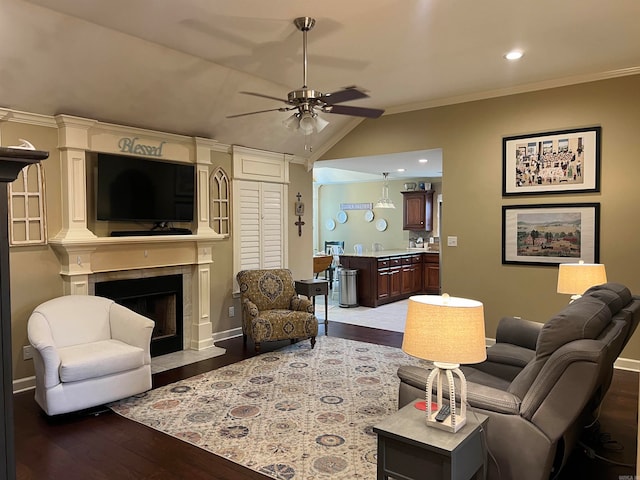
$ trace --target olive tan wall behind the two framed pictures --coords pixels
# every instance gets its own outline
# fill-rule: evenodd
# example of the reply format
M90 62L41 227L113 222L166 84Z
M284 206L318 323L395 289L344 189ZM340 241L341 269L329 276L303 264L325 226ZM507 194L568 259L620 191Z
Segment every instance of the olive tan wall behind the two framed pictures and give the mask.
M502 265L502 205L599 202L600 261L640 294L640 76L511 95L363 122L322 159L443 149L442 291L484 303L487 336L500 317L546 321L567 304L557 267ZM600 125L601 192L502 197L502 138ZM316 166L320 166L316 163ZM446 237L458 237L447 247ZM623 357L640 360L640 338Z

